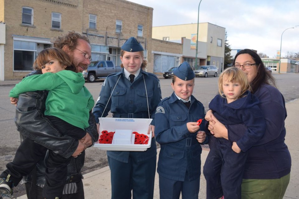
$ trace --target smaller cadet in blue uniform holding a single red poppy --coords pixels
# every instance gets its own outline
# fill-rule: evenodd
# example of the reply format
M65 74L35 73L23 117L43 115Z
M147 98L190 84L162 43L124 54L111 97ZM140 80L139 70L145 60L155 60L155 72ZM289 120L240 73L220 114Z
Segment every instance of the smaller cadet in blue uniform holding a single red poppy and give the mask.
M198 199L200 145L207 143L203 119L205 109L192 95L194 71L183 62L174 72L170 97L155 113L155 137L161 145L158 161L160 199ZM202 119L202 124L197 122ZM200 125L198 125L200 124Z

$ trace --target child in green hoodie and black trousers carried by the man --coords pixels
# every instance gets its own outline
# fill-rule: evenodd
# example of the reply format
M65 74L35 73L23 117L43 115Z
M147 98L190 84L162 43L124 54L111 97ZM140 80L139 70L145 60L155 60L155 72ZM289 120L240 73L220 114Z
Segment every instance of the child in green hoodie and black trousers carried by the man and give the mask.
M34 66L43 74L24 78L10 91L9 96L17 98L21 93L49 90L45 117L62 133L62 137L70 136L80 140L86 135L84 128L89 126L89 112L94 105L92 95L84 87L82 73L73 72L75 67L72 66L69 55L57 48L42 50ZM28 148L30 153L24 153ZM31 172L36 162L44 158L46 151L45 146L37 144L34 140L25 139L21 142L14 160L7 164L7 169L0 175L0 198L11 196L12 188L17 186L22 176ZM70 159L71 157L65 158L49 150L44 198L61 197Z

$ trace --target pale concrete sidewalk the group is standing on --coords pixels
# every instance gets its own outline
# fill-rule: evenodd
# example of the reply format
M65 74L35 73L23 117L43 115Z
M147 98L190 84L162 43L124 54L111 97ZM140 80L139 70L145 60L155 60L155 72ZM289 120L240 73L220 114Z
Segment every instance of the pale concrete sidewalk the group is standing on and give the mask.
M294 100L288 102L286 104L287 107L287 119L286 119L286 129L287 129L287 136L286 136L286 144L290 150L292 156L292 171L291 171L291 179L290 183L287 187L287 192L284 196L284 199L299 199L299 122L297 119L299 113L299 100ZM159 155L158 149L158 155ZM201 160L201 170L203 164L206 160L206 156L208 154L207 149L202 150ZM158 158L157 158L158 160ZM84 192L85 192L85 199L108 199L111 198L111 184L110 184L110 169L109 167L104 167L102 169L95 170L88 174L84 175L83 179L84 184ZM200 179L200 192L199 192L199 199L206 198L206 180L201 175ZM26 199L26 195L17 197L17 199ZM155 189L154 189L154 199L159 199L159 176L156 173L155 176Z

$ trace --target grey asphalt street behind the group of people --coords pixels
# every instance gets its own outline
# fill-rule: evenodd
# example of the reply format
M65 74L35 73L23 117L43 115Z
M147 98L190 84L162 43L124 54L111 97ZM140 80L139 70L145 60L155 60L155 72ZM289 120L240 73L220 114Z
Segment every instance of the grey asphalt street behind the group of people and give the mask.
M299 98L299 74L273 74L277 80L278 89L282 92L286 102ZM194 96L201 101L208 109L209 101L217 94L218 77L196 78ZM97 80L95 83L86 83L86 87L92 93L96 100L102 87L103 80ZM173 92L170 83L171 79L160 78L162 97L167 97ZM7 162L12 161L15 151L20 144L19 133L14 124L15 106L8 100L8 93L13 86L1 86L0 92L0 171L5 169ZM86 161L83 167L83 173L91 172L95 169L107 166L106 151L91 147L86 150ZM18 186L15 189L14 196L25 194L24 187Z

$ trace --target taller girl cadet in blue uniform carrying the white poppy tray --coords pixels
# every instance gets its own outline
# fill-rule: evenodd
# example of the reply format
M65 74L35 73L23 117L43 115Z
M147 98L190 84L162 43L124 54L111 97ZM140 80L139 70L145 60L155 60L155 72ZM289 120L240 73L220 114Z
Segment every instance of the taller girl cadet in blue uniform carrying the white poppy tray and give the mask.
M155 110L162 96L159 79L144 71L147 62L143 59L143 50L134 37L121 46L123 69L107 76L102 85L93 108L97 123L99 117L106 117L109 111L114 118L153 118L151 129L154 133ZM107 151L112 199L131 199L131 191L134 199L154 197L155 142L153 137L146 151Z

